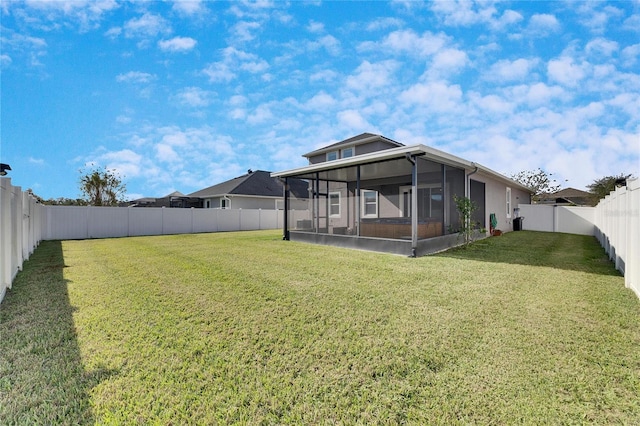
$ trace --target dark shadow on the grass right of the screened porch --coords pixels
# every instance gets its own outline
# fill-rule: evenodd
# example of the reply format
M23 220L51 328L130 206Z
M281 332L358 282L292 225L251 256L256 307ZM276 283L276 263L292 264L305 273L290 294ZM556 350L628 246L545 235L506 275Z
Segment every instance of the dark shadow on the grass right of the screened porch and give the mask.
M588 235L508 232L435 256L620 276L595 237Z

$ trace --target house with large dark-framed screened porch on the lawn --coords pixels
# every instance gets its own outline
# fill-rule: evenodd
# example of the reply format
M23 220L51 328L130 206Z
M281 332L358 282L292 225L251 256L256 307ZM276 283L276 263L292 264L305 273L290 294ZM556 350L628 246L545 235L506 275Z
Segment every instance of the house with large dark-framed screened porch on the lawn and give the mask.
M285 239L422 255L460 242L455 196L475 202L484 232L492 214L497 229L513 230L518 204L531 202L529 188L484 166L371 133L304 157L308 166L271 175L309 188L305 210L285 194Z

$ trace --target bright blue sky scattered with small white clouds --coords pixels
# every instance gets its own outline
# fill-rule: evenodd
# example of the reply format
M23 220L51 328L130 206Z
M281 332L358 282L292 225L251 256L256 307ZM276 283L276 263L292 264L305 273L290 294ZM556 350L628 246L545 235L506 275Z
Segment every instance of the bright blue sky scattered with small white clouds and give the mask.
M640 170L640 2L1 3L0 158L190 193L362 132L563 187Z

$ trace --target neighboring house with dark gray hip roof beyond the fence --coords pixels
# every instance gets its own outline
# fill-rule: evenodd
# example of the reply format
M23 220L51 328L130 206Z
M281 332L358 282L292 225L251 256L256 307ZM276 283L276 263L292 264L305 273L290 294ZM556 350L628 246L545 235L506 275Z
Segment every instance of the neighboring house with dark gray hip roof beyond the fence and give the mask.
M309 197L306 182L292 180L292 191L301 200ZM270 172L249 170L247 174L189 194L202 199L207 209L263 209L284 208L284 185ZM306 202L304 203L306 207Z

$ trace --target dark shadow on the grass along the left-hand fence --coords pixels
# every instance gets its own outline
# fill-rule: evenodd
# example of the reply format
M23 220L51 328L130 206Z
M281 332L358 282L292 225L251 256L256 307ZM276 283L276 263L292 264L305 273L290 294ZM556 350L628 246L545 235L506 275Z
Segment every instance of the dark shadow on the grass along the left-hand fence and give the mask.
M90 391L116 372L86 372L60 241L43 241L0 305L0 418L94 424Z

